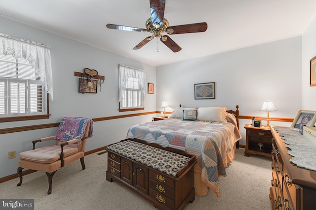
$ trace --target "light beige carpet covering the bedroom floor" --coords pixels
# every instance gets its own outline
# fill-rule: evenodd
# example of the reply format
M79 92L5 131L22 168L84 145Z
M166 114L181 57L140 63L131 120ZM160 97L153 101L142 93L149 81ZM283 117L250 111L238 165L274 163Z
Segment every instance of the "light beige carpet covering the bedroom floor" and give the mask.
M84 157L86 169L80 161L59 169L53 177L52 193L47 195L48 180L44 172L0 183L0 198L35 199L35 210L155 210L146 199L119 184L106 180L107 153L96 152ZM271 210L271 158L244 156L237 149L236 158L227 168L227 177L220 177L219 198L209 190L185 210Z

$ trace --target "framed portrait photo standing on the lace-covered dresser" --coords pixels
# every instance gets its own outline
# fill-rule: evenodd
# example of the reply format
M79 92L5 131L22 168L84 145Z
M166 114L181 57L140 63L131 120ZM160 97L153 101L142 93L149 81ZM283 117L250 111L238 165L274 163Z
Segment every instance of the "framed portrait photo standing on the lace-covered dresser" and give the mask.
M316 122L316 111L300 110L291 124L292 130L303 129L303 126L314 127Z

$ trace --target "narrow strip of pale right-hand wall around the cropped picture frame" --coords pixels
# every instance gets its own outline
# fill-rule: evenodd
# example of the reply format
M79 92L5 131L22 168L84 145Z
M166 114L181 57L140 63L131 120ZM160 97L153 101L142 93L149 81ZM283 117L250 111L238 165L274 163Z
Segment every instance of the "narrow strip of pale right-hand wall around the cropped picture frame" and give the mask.
M302 38L302 100L303 110L316 110L316 86L310 87L310 60L316 56L316 18Z

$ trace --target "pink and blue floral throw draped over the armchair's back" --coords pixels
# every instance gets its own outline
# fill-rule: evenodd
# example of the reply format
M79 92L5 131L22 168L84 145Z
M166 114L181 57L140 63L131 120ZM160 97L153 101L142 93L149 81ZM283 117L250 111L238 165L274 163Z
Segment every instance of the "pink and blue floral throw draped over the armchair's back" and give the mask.
M81 117L65 117L59 123L55 140L67 142L72 139L81 139L85 134L87 123L90 122L88 137L93 135L93 120Z

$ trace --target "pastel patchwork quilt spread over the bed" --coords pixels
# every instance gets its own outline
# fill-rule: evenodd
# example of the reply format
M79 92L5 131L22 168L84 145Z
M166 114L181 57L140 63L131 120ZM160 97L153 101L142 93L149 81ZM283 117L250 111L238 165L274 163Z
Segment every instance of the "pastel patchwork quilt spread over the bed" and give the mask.
M234 144L241 139L241 135L234 121L211 123L168 118L136 124L128 130L127 138L141 139L196 155L195 172L219 196L218 177L226 176L225 168L234 160Z

